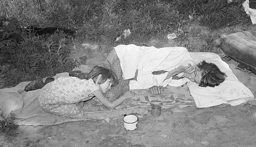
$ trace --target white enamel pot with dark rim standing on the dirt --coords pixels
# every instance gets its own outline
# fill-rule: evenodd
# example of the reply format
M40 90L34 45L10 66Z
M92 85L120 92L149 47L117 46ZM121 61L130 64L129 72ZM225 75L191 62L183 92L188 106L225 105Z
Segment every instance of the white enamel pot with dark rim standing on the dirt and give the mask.
M124 128L126 130L135 130L138 127L138 117L135 115L124 114Z

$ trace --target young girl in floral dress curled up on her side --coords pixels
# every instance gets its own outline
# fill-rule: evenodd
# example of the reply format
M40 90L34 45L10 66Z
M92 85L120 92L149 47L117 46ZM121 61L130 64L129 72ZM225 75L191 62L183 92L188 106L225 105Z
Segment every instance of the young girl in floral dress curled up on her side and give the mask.
M96 97L108 108L115 108L124 100L134 97L135 93L126 91L115 101L110 102L103 96L111 86L116 86L116 74L104 67L95 66L86 79L60 77L46 84L38 95L38 104L46 112L70 118L84 116L84 101Z

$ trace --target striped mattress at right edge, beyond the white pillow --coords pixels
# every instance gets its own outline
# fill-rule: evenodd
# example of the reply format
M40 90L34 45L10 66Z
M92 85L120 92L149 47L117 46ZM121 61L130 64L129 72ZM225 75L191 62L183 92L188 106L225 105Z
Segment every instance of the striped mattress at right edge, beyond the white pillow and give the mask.
M239 68L256 74L256 30L224 36L220 48L228 57L239 63Z

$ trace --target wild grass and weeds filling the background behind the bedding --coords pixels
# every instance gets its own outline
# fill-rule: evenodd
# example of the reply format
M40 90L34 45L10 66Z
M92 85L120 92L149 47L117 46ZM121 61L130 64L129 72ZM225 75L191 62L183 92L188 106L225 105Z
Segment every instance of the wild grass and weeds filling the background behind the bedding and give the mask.
M71 50L84 42L97 45L98 52L109 53L118 44L140 44L152 36L166 40L167 34L176 33L178 46L217 53L215 40L220 33L216 30L230 34L250 24L242 3L243 0L230 4L223 0L2 0L0 89L68 72L76 66L69 58ZM208 27L208 33L198 28L188 32L193 22ZM76 34L38 36L29 26L62 27L76 30ZM125 29L130 29L131 35L116 41ZM188 35L201 45L186 42ZM86 63L86 58L80 60Z

